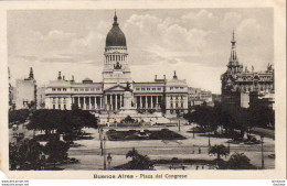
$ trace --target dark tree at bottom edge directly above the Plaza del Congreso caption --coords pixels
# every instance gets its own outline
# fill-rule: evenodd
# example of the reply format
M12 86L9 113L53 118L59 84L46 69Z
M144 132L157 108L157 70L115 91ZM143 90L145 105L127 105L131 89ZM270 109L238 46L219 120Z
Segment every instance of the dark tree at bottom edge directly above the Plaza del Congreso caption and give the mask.
M126 158L131 157L125 166L126 169L152 169L153 163L147 155L141 155L134 147L126 154Z

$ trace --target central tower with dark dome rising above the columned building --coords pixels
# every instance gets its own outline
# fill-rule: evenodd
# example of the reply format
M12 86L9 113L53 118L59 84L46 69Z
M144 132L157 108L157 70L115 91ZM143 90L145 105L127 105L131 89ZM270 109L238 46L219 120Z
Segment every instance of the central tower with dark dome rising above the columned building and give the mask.
M127 81L131 81L126 36L119 29L116 12L113 28L106 37L104 56L104 89L111 87L115 84L126 84Z

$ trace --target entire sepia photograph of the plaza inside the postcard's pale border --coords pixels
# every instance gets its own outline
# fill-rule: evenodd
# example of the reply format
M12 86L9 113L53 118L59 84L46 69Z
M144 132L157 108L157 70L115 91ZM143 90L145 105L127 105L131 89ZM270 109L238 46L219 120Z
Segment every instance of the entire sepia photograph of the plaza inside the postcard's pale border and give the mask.
M7 47L11 172L276 169L273 8L8 10Z

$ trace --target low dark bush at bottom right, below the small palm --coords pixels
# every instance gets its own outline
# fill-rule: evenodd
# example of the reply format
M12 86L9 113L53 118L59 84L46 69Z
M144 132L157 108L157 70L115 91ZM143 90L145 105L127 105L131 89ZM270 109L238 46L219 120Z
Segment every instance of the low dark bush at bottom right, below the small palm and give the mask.
M246 155L244 155L244 153L234 153L231 155L228 162L226 163L226 168L254 169L256 167L251 164L251 160Z

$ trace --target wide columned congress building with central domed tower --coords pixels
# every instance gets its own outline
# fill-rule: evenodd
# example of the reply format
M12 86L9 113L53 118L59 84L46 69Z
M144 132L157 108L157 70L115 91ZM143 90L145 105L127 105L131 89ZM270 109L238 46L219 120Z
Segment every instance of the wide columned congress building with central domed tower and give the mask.
M171 79L166 75L153 81L134 81L129 68L128 48L125 34L119 28L117 15L107 34L104 53L103 80L94 83L89 78L76 83L66 80L59 73L45 89L45 108L72 109L78 107L94 112L119 111L124 107L127 84L132 95L131 105L142 111L162 111L178 114L188 111L188 84L174 72Z

